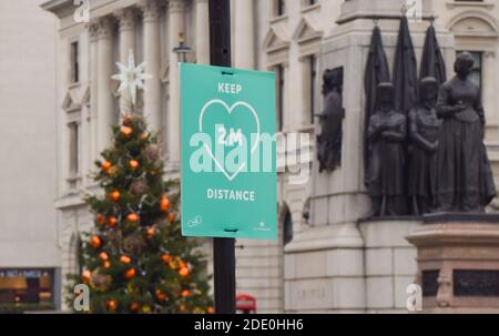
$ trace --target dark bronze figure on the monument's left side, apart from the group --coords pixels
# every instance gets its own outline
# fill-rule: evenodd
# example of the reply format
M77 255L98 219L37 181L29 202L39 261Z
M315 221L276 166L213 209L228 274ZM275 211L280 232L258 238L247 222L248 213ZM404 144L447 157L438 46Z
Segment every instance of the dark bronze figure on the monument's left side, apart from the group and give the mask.
M342 162L343 119L343 68L326 70L323 75L324 111L319 118L320 134L317 136L319 172L332 172Z

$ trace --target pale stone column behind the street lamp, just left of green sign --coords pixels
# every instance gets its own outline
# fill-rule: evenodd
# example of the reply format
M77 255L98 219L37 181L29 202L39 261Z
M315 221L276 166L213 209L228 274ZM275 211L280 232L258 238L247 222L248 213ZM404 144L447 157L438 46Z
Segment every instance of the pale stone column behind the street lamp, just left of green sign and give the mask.
M179 44L179 34L184 28L184 1L169 1L169 41L170 41L170 101L167 147L169 166L177 170L180 164L180 90L179 90L179 55L173 51Z

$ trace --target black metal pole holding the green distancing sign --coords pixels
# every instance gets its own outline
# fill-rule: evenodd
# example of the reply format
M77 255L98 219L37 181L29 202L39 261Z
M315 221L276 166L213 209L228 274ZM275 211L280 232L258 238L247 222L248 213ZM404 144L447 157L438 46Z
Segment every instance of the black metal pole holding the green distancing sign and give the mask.
M230 0L210 0L210 60L212 65L231 67ZM234 238L213 240L215 313L235 313Z

